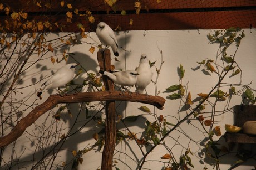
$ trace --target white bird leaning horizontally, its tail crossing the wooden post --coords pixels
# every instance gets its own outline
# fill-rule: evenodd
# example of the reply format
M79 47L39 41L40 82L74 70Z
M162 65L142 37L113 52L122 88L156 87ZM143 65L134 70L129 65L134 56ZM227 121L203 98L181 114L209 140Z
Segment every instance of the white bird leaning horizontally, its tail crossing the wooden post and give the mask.
M137 82L137 71L135 70L126 70L126 71L101 71L100 73L108 76L110 79L114 81L115 84L120 85L122 88L124 86L133 86Z

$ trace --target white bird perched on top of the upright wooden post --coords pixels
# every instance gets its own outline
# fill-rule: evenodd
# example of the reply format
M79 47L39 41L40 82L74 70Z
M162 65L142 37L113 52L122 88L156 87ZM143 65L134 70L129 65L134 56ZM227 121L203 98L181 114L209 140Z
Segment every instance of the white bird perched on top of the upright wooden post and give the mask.
M117 51L117 40L113 30L104 22L100 22L97 25L96 35L98 36L101 44L105 45L106 48L109 46L112 48L115 56L118 56Z

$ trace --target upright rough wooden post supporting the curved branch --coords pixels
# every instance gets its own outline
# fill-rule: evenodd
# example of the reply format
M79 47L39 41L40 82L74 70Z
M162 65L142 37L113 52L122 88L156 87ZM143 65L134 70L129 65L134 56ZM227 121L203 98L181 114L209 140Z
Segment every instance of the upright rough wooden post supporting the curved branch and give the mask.
M110 50L98 51L97 59L101 70L111 70ZM115 90L114 83L107 76L102 76L106 90ZM106 101L106 126L105 126L105 145L102 152L101 169L112 170L113 155L116 144L116 122L115 122L115 101Z

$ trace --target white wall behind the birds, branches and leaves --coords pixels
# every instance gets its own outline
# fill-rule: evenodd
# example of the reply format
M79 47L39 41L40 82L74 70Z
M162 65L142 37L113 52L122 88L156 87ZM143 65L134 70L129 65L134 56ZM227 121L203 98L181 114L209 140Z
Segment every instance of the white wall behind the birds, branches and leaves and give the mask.
M112 60L112 64L115 65L116 69L135 69L136 66L139 65L139 59L140 55L142 53L147 54L150 61L156 61L156 66L159 68L160 66L160 53L159 49L157 48L157 44L159 45L159 48L163 50L163 60L165 61L163 63L163 68L161 70L161 73L159 75L159 80L157 81L157 89L160 91L159 96L166 97L169 95L168 93L164 93L165 88L174 85L179 84L179 76L177 73L177 68L181 64L183 65L185 69L185 76L182 80L182 84L186 85L188 83L188 91L191 91L191 98L195 99L198 97L196 94L203 92L208 93L212 87L215 86L215 84L218 82L218 76L216 74L211 75L205 75L201 71L203 67L201 66L198 70L193 70L193 68L196 68L198 64L196 61L202 61L204 59L216 59L216 53L218 51L219 45L218 44L210 44L209 40L207 39L206 35L208 33L213 33L214 30L200 30L200 34L198 30L149 30L149 31L129 31L129 32L119 32L117 33L117 40L119 42L119 46L126 48L129 50L127 53L125 53L124 50L120 49L120 56L118 59L120 62L117 62L115 60ZM250 85L254 89L256 89L256 30L252 30L252 33L250 33L249 29L244 29L245 38L242 39L242 43L237 51L237 54L235 56L235 60L237 61L238 65L243 71L243 81L242 84L249 84L252 81L252 84ZM54 39L56 36L64 35L65 33L60 33L60 35L56 34L48 34L48 39ZM85 42L89 43L99 43L99 40L97 39L94 32L90 33L91 37L88 37L87 39L81 39L80 45L71 45L69 49L67 49L67 52L69 53L75 53L75 59L79 61L82 66L88 71L88 72L95 72L99 71L99 66L97 65L97 48L94 54L91 54L88 49L90 49L91 45L87 44ZM126 47L125 47L126 45ZM232 48L232 49L235 49ZM234 50L230 50L229 54L234 54ZM55 54L62 54L63 49L60 49ZM111 52L112 54L112 52ZM36 81L42 79L46 75L51 75L51 71L55 72L58 68L60 68L62 65L65 64L64 61L61 61L59 64L52 64L50 61L50 56L53 54L48 54L48 58L45 60L41 60L40 64L34 65L31 68L29 68L28 71L26 71L26 74L22 75L23 84L20 86L26 86L29 84L32 84ZM114 56L112 54L112 56ZM35 54L31 60L36 60L38 56ZM61 55L57 56L59 60L61 60ZM114 58L114 57L113 57ZM219 60L219 59L218 59ZM70 63L72 60L68 60L68 63ZM156 71L152 69L154 76L152 80L156 79ZM83 78L86 77L86 74L81 75L76 79L77 83L81 83L83 81ZM227 78L225 82L228 83L239 83L240 76L234 76L232 78ZM41 84L43 82L38 83L35 86L35 89L39 89ZM17 98L23 98L27 94L35 93L35 89L31 88L31 91L25 91L24 94L19 94ZM131 89L131 91L134 91L135 89ZM228 90L227 88L223 88L224 90ZM151 83L147 87L147 92L149 95L155 95L154 94L154 84ZM51 94L55 94L56 91L50 91ZM43 93L43 100L37 100L38 104L45 101L48 96L48 91ZM29 99L29 100L34 100ZM230 106L234 106L237 104L240 104L242 101L241 97L234 96L232 99L232 102L230 103ZM118 104L120 102L117 102ZM195 102L192 107L195 107L198 102ZM220 102L218 104L218 110L223 110L223 107L225 106L226 102ZM144 106L145 104L138 104L138 103L132 103L132 102L121 102L119 105L117 105L117 114L125 116L130 115L139 115L143 114L144 117L149 119L150 121L154 121L154 117L150 116L149 114L145 114L145 112L142 112L138 108L140 106ZM69 106L72 113L76 114L78 111L78 104L71 104ZM166 99L164 110L155 110L154 107L150 105L146 105L150 108L152 112L155 112L157 116L164 115L168 116L166 119L171 123L176 123L177 120L182 119L186 112L180 112L178 114L180 108L180 100L169 100ZM102 107L102 106L97 106ZM206 107L207 111L210 111L210 107ZM189 113L189 112L188 112ZM53 113L54 114L54 113ZM221 132L224 134L224 125L225 123L233 123L233 113L227 112L227 113L218 113L219 116L216 117L216 126L221 126ZM24 113L24 116L26 114ZM48 117L48 121L51 120L51 113L43 115L40 119L37 120L37 124L46 123L46 126L49 125L51 122L45 122L46 117ZM62 120L58 122L58 126L62 129L61 133L65 133L68 131L69 126L72 125L72 122L75 121L74 118L70 118L66 115L62 115ZM74 116L75 117L75 116ZM191 117L192 119L193 117ZM85 117L80 116L80 123L77 123L76 128L83 126L85 123ZM64 121L66 120L66 122ZM52 120L54 122L54 120ZM137 137L139 138L141 134L141 128L145 128L145 119L139 119L135 123L131 123L129 126L129 129L136 133ZM124 126L121 125L121 123L117 124L117 128L119 130L124 130ZM179 131L174 131L170 134L170 137L166 138L165 143L168 143L168 147L173 147L173 153L176 159L179 158L181 154L184 154L186 151L186 148L190 148L191 152L194 153L194 156L191 156L192 162L195 166L194 169L203 169L205 166L208 167L208 169L211 169L211 163L208 161L208 159L205 158L205 152L201 152L204 150L204 146L201 146L201 141L205 138L205 133L200 132L202 128L200 127L200 124L196 120L192 120L191 123L184 122L180 128L178 128ZM64 150L61 151L61 154L63 157L56 158L57 162L67 162L65 157L72 158L71 151L72 150L83 150L86 146L92 145L95 140L92 138L92 134L95 131L99 131L100 128L90 124L86 125L79 135L75 135L70 137L70 143L65 144ZM183 133L181 133L183 131ZM17 152L23 152L22 158L31 159L28 157L29 153L33 153L35 150L35 145L32 145L32 135L29 135L31 133L38 133L37 128L32 125L29 127L26 133L18 139L18 143L22 143L19 148L17 145ZM124 131L127 133L127 131ZM191 140L189 140L188 135ZM49 134L51 135L51 134ZM30 139L29 139L29 138ZM219 137L216 137L216 140L218 140ZM34 141L36 142L36 141ZM179 143L179 145L175 145L175 143ZM175 145L175 146L174 146ZM11 146L8 146L7 148L11 152ZM132 149L132 151L130 150ZM145 147L142 147L142 150L145 150ZM121 152L125 152L130 157L125 156ZM101 150L102 152L102 150ZM101 152L95 152L90 151L83 155L83 163L80 167L80 169L97 169L100 167L101 164ZM166 148L163 145L159 145L155 148L155 150L150 153L150 155L147 157L147 160L157 160L157 161L163 161L168 162L165 160L161 160L161 156L163 156L165 153L168 153ZM232 154L234 156L234 154ZM9 154L6 152L4 153L4 158L8 159ZM40 157L40 155L38 155ZM121 142L116 147L115 152L115 159L118 163L116 167L120 169L136 169L137 168L137 161L141 161L142 154L136 145L136 143L132 140L128 142ZM234 157L235 158L235 157ZM234 161L236 159L230 160L230 156L221 157L220 162L220 169L228 169L230 167L230 164L234 164ZM126 165L125 165L126 164ZM249 167L238 167L237 169L252 169L253 164L252 162L246 163ZM160 162L146 162L144 164L145 169L161 169L163 167L163 163ZM167 165L167 164L166 164Z

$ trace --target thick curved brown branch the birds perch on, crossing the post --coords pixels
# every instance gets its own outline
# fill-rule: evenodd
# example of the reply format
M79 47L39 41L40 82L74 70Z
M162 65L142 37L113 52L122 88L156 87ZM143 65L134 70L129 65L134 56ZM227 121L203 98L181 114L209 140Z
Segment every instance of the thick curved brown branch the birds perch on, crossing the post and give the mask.
M22 135L27 127L32 125L32 123L34 123L40 116L55 107L57 104L110 100L142 102L144 104L154 105L158 109L163 109L165 103L165 99L163 97L137 94L135 92L83 92L72 95L68 94L63 97L60 95L51 95L45 102L35 107L35 109L33 109L26 117L23 117L8 135L0 139L0 148L17 140L17 138Z

